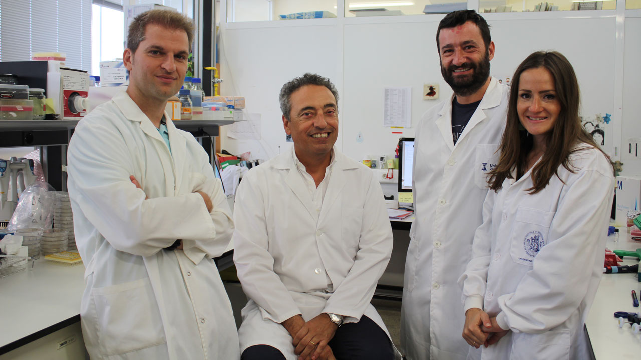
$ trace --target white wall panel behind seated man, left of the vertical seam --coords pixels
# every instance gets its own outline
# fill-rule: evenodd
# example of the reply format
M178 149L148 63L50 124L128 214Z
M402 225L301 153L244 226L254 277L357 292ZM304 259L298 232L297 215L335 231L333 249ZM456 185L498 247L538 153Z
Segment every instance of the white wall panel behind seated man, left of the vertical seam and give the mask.
M222 136L223 149L251 151L253 159L260 160L288 149L278 102L280 89L305 72L337 78L336 31L335 26L239 29L221 37L221 94L242 94L247 99L247 113L260 113L262 118L260 140ZM224 134L226 127L221 130Z

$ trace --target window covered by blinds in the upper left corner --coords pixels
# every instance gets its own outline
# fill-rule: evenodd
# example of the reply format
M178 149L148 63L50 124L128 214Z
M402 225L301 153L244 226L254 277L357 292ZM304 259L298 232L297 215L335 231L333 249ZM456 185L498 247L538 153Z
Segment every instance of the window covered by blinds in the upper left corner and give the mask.
M91 0L0 1L0 61L65 53L71 69L91 67Z

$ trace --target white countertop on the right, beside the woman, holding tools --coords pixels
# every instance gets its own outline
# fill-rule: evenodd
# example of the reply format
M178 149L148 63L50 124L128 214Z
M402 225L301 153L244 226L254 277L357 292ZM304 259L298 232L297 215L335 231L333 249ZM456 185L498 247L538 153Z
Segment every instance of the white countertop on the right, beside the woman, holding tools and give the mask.
M626 231L624 228L620 230ZM619 243L615 243L610 236L607 247L613 251L637 250L641 249L641 243L630 240L629 234L622 233L619 235ZM638 263L636 258L623 259L623 265ZM641 311L640 307L632 306L631 291L637 291L637 297L641 294L641 282L637 279L637 274L603 274L601 277L599 290L585 322L597 360L637 359L641 354L640 335L635 335L629 324L619 329L619 322L614 318L616 311Z

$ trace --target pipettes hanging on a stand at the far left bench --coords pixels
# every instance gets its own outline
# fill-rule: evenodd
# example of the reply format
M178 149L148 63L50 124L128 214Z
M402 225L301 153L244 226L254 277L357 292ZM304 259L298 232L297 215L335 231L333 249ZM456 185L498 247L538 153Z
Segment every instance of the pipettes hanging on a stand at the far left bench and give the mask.
M6 227L9 224L18 204L19 195L35 180L33 160L0 159L0 227ZM9 197L10 191L11 197Z

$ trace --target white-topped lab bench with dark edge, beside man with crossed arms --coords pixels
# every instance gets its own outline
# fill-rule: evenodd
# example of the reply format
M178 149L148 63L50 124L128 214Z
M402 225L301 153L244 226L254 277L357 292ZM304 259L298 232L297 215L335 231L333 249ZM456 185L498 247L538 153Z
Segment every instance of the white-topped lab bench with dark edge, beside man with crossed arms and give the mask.
M224 254L214 259L219 271L233 266L232 256L230 241ZM25 270L0 279L0 289L0 360L8 352L37 342L38 348L44 348L42 352L55 352L58 343L72 338L69 348L58 350L62 351L58 358L84 358L79 322L85 266L59 265L41 256L33 268L29 263ZM57 335L48 344L42 344L42 339L52 334ZM72 347L74 342L77 344ZM81 354L77 354L79 350Z

